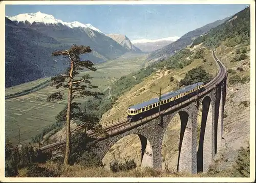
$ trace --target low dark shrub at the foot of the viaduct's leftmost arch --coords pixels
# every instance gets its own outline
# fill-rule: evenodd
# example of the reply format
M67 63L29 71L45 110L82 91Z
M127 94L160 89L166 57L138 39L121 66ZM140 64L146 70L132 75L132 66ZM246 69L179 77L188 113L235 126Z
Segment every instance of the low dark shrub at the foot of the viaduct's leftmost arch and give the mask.
M132 169L134 169L136 167L137 167L137 165L134 162L134 159L132 159L132 160L126 160L125 159L125 163L118 163L117 160L115 160L114 162L110 163L110 169L113 172L132 170Z

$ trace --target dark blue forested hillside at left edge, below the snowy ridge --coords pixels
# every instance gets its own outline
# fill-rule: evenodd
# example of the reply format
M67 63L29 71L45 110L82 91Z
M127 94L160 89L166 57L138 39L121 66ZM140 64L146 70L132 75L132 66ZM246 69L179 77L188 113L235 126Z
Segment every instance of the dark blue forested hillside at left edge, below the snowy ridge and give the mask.
M30 28L22 28L6 18L6 87L49 77L63 71L62 62L51 58L49 45L59 41ZM56 47L58 49L58 47Z

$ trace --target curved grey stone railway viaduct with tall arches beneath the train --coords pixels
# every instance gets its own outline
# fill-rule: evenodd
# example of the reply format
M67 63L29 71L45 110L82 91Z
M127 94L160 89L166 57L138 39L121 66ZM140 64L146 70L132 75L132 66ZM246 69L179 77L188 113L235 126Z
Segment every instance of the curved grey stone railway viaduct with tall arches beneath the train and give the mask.
M227 72L224 65L212 52L219 73L205 85L205 91L197 97L192 97L174 107L158 113L139 122L114 125L109 130L108 138L99 138L92 149L101 159L110 148L127 135L137 134L141 142L141 166L162 169L162 142L169 123L177 114L180 117L180 142L177 171L197 173L207 171L216 153L221 147L223 135L223 112L226 98ZM197 134L199 106L202 105L201 130ZM161 122L160 122L161 120ZM116 126L116 127L115 127ZM168 135L168 134L167 134ZM197 136L199 144L197 150ZM47 150L57 145L55 143L41 150ZM129 147L124 147L129 148ZM147 152L147 153L145 153Z

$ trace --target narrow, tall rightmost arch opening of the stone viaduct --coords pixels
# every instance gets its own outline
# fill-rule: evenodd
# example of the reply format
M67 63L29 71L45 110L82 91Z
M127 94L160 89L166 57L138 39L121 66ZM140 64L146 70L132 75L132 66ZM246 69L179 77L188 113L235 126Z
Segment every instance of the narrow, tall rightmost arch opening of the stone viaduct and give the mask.
M200 108L202 111L200 111ZM198 150L197 150L197 171L206 172L209 165L211 164L212 157L214 156L212 147L214 147L213 134L214 132L214 123L212 121L212 115L214 113L214 108L212 107L212 100L209 95L206 95L202 103L199 106L199 113L201 112L201 124L200 124L200 133ZM200 114L198 114L200 116Z

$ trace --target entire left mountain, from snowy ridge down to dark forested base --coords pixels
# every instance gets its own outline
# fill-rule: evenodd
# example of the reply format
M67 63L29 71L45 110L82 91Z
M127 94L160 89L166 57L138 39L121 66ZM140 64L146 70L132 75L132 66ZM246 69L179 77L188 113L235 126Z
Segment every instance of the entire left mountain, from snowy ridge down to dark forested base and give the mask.
M91 24L65 22L41 12L6 16L5 28L6 87L63 72L65 61L51 53L72 44L89 45L93 52L81 59L94 63L131 52Z

